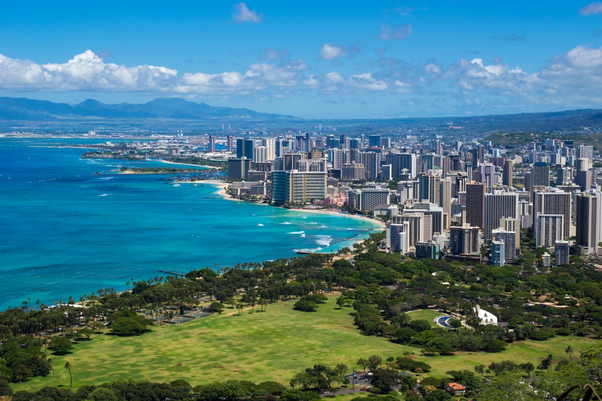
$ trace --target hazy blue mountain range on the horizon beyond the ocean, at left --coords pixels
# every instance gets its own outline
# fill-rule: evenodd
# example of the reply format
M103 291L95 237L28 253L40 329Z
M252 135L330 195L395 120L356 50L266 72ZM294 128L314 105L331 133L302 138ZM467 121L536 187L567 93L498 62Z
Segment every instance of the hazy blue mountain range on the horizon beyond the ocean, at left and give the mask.
M78 105L54 103L25 97L0 97L0 120L299 120L290 115L260 113L249 109L209 106L178 97L155 99L148 103L107 105L87 99Z

